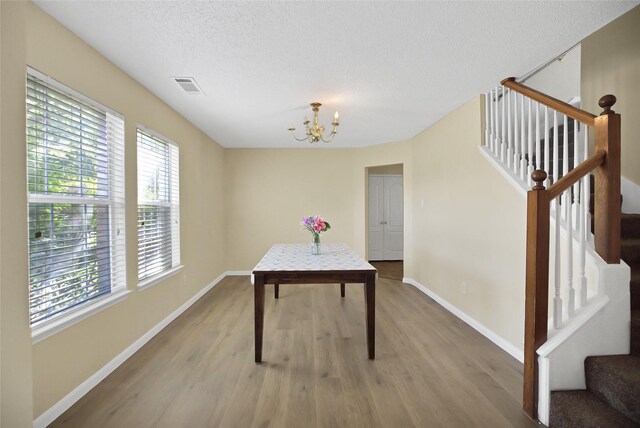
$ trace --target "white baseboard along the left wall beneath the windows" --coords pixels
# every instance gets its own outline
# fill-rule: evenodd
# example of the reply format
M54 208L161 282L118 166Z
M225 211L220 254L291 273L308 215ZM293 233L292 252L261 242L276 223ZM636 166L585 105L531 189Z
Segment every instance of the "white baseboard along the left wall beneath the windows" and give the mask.
M184 311L189 309L191 305L197 302L202 296L204 296L209 290L215 287L226 276L244 275L233 272L225 272L202 290L196 293L193 297L187 300L182 306L173 311L169 316L156 324L153 328L147 331L142 337L133 342L124 351L118 354L113 360L109 361L104 367L95 372L91 377L78 385L73 391L67 394L62 400L58 401L51 408L38 416L33 421L34 428L44 428L53 421L55 421L61 414L67 411L78 400L84 397L89 391L91 391L97 384L102 382L109 374L117 369L122 363L124 363L129 357L135 354L140 348L142 348L149 340L151 340L156 334L160 333L171 321L178 318Z

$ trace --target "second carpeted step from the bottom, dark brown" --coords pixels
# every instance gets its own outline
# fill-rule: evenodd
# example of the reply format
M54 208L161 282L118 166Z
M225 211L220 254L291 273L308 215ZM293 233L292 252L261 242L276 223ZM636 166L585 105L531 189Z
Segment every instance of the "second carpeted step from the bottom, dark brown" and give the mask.
M640 356L587 357L584 364L587 389L640 423Z

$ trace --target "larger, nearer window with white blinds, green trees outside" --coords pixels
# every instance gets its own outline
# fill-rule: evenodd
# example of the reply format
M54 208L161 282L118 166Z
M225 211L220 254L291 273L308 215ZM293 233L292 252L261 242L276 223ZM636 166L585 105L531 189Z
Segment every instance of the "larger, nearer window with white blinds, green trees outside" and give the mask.
M27 73L29 306L33 327L126 290L124 120Z

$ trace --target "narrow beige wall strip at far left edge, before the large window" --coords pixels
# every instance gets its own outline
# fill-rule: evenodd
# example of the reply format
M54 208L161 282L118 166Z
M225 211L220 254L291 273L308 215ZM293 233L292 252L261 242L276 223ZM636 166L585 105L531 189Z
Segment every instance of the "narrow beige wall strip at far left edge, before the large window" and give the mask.
M0 426L33 420L27 288L23 7L0 2Z

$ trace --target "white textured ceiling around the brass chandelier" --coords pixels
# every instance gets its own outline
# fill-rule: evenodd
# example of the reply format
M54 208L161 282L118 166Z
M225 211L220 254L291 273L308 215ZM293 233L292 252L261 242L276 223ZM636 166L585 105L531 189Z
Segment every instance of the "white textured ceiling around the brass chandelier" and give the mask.
M637 3L36 1L223 147L308 146L312 101L323 146L412 137Z

